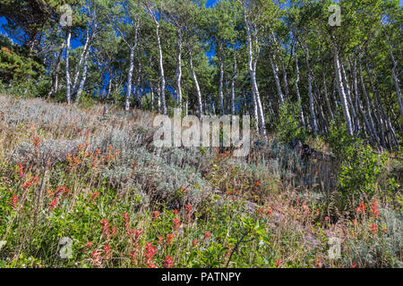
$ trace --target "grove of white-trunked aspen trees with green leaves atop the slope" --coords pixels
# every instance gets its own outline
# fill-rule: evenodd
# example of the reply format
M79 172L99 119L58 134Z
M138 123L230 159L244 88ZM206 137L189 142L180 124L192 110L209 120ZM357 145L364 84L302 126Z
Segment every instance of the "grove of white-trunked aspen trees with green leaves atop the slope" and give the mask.
M0 80L69 105L251 114L262 137L298 105L313 135L335 122L393 149L402 16L397 0L2 0Z

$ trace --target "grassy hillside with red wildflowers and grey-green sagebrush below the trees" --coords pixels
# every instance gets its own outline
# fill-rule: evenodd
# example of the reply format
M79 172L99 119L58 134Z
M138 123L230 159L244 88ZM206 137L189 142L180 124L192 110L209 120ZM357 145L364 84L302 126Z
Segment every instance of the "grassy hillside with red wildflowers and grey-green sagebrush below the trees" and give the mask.
M354 161L155 149L153 116L1 96L0 266L403 266L399 156L354 195Z

